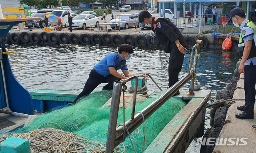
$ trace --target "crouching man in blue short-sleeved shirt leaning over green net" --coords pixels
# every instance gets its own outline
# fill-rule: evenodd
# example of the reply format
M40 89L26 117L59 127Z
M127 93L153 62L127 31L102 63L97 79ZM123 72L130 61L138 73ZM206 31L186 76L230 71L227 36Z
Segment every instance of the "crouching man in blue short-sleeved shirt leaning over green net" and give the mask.
M76 97L73 103L76 103L84 95L90 94L100 83L108 83L102 89L112 90L113 83L115 80L120 81L121 79L127 79L131 76L136 76L130 74L126 65L126 60L130 58L130 54L133 53L132 46L128 44L121 44L118 47L119 53L110 53L105 56L98 64L94 66L89 74L83 91ZM122 70L124 76L117 72L117 70ZM144 77L145 74L139 75L137 77Z

